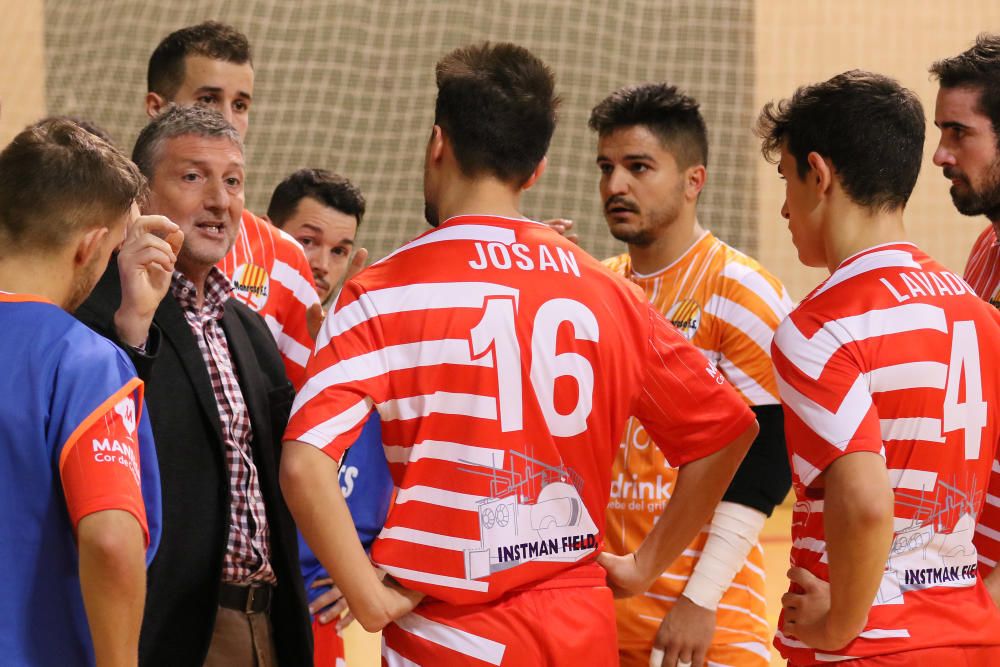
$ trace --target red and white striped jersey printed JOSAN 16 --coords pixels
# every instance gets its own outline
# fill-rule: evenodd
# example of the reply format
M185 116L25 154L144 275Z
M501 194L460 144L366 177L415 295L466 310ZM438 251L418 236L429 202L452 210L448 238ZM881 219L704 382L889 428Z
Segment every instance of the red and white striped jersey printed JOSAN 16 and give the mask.
M373 408L398 490L372 559L453 604L604 585L629 415L678 466L753 421L639 289L545 225L489 216L347 283L285 439L339 459Z

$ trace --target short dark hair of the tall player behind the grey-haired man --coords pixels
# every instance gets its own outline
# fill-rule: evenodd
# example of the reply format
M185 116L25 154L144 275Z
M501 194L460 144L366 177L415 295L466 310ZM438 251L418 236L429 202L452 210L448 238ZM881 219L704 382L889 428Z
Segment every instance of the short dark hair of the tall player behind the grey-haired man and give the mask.
M184 59L188 56L253 66L246 35L231 25L205 21L175 30L156 46L146 70L147 90L172 100L184 83Z

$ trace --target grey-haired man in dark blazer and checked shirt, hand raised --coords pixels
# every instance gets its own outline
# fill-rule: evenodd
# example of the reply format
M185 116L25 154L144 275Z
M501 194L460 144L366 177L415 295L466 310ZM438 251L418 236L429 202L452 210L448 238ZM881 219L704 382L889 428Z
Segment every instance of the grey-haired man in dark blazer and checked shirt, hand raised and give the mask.
M150 182L144 213L184 234L176 269L148 268L168 257L176 239L156 237L169 230L135 228L76 315L146 381L163 537L140 664L311 664L295 527L278 489L292 386L267 325L229 298L215 268L239 229L242 142L218 112L175 107L140 133L133 160Z

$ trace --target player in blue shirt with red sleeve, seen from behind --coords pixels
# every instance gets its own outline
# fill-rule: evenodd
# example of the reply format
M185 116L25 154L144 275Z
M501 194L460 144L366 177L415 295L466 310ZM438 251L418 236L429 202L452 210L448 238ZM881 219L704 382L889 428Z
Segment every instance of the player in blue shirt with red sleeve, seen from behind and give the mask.
M145 291L169 282L174 248L135 231L176 241L176 227L138 218L143 189L135 165L69 120L37 123L0 153L6 665L136 662L159 540L156 451L135 368L70 313L118 247Z

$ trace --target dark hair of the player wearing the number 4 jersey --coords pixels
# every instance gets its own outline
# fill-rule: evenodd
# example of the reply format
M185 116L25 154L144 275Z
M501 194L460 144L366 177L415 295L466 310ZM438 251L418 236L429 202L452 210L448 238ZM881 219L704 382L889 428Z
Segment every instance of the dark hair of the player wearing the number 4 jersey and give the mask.
M767 103L754 131L768 161L778 162L785 145L804 178L809 153L816 152L833 163L852 201L893 211L906 206L917 182L924 126L913 91L890 77L851 70Z

